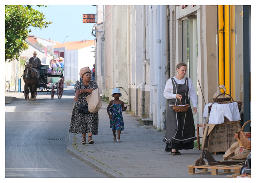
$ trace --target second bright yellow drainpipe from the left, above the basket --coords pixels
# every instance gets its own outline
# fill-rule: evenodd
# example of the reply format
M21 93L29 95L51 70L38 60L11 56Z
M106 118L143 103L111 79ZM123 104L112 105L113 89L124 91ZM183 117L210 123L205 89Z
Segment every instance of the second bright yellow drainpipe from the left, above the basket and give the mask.
M225 16L225 87L227 94L230 94L230 18L229 5L224 5Z

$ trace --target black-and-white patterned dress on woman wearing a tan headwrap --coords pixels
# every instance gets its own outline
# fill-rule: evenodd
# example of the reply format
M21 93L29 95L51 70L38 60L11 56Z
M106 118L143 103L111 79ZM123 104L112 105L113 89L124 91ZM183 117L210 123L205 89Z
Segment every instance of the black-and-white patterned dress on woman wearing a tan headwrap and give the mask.
M83 81L77 81L74 87L75 91L78 89L90 89L94 88L97 89L98 85L95 81L90 81L88 86L84 86ZM99 125L99 114L98 112L94 114L84 114L78 112L79 104L87 104L86 96L90 93L84 92L79 95L79 99L74 104L74 108L72 111L72 117L70 122L70 129L69 132L71 133L92 133L94 135L98 134L98 125Z

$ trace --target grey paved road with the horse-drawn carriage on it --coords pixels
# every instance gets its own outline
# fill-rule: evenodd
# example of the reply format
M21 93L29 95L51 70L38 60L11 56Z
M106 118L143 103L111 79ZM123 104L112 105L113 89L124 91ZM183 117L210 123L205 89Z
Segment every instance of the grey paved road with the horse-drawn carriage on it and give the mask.
M74 89L38 92L35 101L17 98L5 106L7 177L106 177L66 152Z

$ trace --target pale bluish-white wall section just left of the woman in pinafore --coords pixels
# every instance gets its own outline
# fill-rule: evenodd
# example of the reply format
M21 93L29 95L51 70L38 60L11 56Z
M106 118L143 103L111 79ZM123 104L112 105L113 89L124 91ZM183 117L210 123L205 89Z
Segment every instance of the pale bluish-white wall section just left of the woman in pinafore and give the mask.
M148 6L148 28L146 40L148 43L148 59L150 63L150 118L158 129L164 128L165 98L165 6ZM146 88L146 87L145 87Z

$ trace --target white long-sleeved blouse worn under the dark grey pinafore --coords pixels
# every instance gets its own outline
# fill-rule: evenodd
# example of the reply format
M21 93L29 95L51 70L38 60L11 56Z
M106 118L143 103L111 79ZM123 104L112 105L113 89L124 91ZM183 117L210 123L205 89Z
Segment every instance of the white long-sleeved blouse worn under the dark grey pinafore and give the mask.
M176 81L176 83L178 83L179 85L184 85L185 81L186 81L186 77L184 77L183 79L179 80L176 77L173 77L174 80ZM188 78L188 96L190 97L192 104L194 107L196 107L197 104L197 96L196 96L196 92L194 90L194 85L191 81L191 79ZM176 98L176 94L173 93L173 87L172 87L172 79L168 79L168 81L166 81L166 85L164 88L164 97L167 99L172 99L172 98Z

